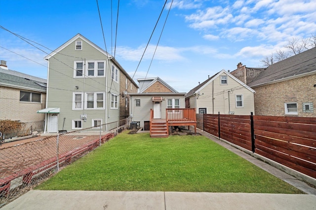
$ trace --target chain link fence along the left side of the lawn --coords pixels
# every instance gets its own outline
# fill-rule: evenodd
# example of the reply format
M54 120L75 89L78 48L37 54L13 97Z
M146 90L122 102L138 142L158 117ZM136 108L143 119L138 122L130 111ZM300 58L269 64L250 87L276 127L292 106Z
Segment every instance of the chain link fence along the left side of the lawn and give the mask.
M124 121L123 126L119 126ZM127 119L60 133L30 142L0 148L0 208L55 174L61 167L101 146L127 126Z

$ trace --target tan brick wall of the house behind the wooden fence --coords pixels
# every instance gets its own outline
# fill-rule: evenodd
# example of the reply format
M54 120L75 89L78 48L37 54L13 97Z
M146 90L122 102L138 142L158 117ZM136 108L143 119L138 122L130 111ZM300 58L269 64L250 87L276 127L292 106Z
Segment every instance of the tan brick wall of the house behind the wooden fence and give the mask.
M271 85L253 88L255 114L268 116L287 116L285 102L297 102L298 117L316 117L316 74L287 80ZM303 112L303 103L312 102L314 111Z

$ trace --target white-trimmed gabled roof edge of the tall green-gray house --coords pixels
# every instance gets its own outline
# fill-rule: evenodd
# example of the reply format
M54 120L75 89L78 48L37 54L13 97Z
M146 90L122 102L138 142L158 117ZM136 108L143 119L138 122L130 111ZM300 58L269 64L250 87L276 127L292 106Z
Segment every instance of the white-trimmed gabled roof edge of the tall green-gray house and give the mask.
M100 53L104 54L109 60L112 60L117 66L118 68L123 72L123 74L130 80L132 81L132 83L138 88L137 84L135 83L135 81L129 76L129 74L125 71L125 69L118 63L117 60L115 60L114 58L112 58L112 56L107 53L105 50L103 50L102 48L100 48L99 46L97 46L96 44L94 44L93 42L91 42L89 39L85 38L84 36L82 36L80 33L78 33L76 36L74 36L73 38L69 39L67 42L65 42L63 45L61 45L59 48L57 48L56 50L54 50L53 52L51 52L49 55L47 55L44 59L48 60L51 57L53 57L54 55L56 55L57 53L59 53L60 51L62 51L65 47L67 47L68 45L70 45L71 43L73 43L74 41L76 41L78 38L82 39L84 42L88 43L89 45L91 45L92 47L94 47L96 50L98 50Z

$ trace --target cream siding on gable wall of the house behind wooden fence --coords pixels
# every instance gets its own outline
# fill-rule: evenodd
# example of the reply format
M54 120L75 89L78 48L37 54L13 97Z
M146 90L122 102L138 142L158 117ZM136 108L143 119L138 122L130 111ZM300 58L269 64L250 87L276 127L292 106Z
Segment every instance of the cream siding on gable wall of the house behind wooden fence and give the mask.
M226 75L222 73L221 75ZM220 84L220 76L214 80L214 114L229 114L229 111L235 112L235 115L250 115L254 112L253 92L242 87L237 81L229 75L227 77L227 85ZM213 82L212 81L212 82ZM202 90L199 91L197 98L197 113L199 108L206 108L207 114L213 114L213 84L210 82ZM232 90L228 93L228 90ZM243 95L243 107L236 107L236 95ZM190 99L191 100L191 99ZM230 101L230 103L229 103ZM191 102L191 101L190 101Z

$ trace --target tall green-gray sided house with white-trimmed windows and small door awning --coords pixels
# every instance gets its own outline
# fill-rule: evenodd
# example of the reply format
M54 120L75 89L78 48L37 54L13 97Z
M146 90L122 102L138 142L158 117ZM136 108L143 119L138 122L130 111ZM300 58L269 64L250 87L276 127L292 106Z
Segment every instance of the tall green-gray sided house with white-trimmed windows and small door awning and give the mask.
M97 125L109 131L117 126L120 74L131 78L110 54L77 34L44 59L48 61L47 106L38 113L46 113L48 132Z

